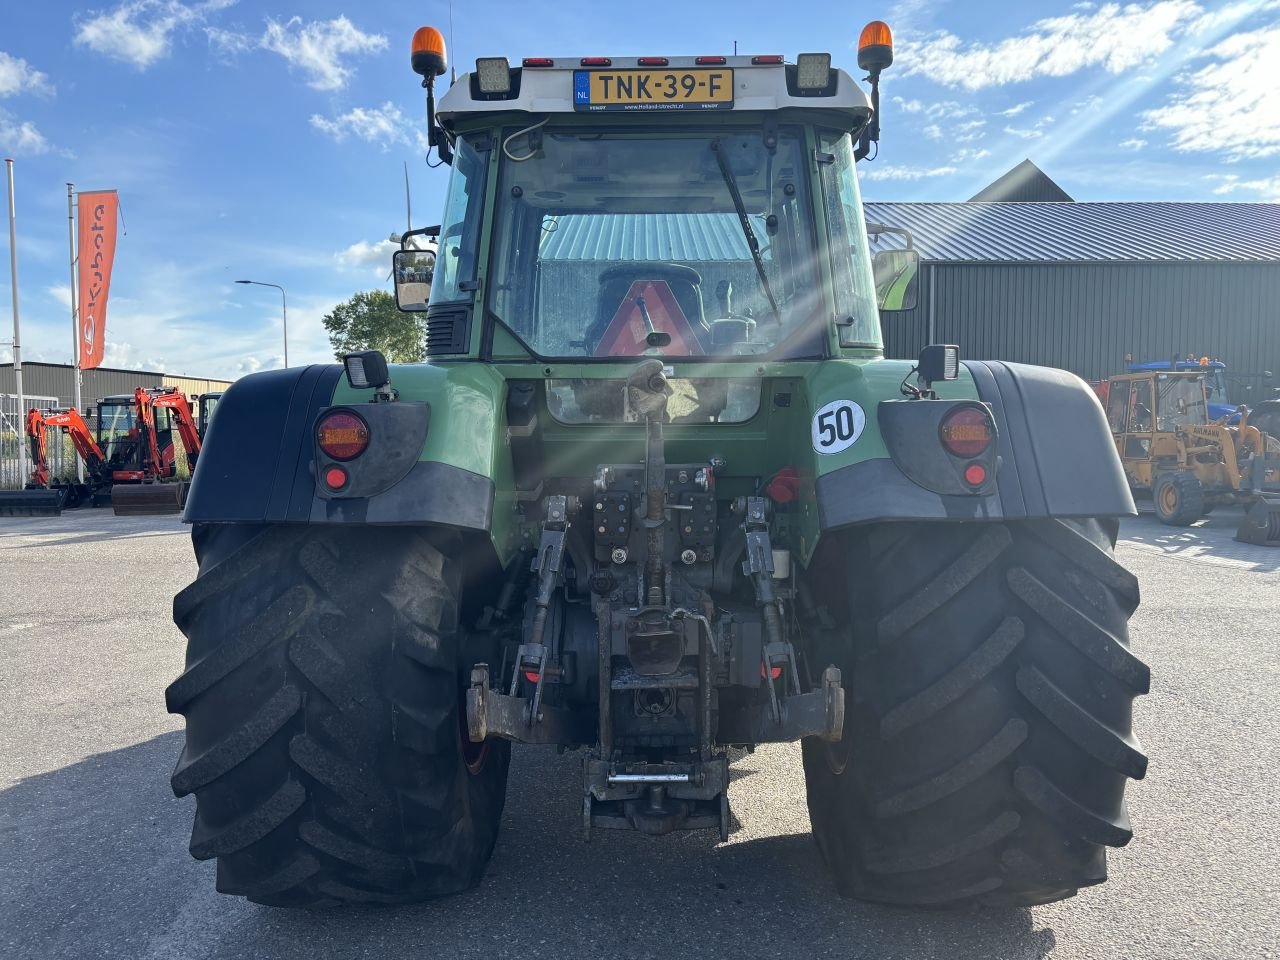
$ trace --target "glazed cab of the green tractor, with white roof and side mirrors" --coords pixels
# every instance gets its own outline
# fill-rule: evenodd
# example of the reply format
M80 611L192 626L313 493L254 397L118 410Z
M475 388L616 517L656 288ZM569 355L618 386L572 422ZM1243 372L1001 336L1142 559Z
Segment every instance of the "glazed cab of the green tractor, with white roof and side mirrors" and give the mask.
M854 166L878 72L868 99L828 54L485 58L438 110L429 87L453 168L429 298L421 252L394 270L428 356L582 376L881 356L877 275L910 280L910 308L915 253L876 271L868 250Z

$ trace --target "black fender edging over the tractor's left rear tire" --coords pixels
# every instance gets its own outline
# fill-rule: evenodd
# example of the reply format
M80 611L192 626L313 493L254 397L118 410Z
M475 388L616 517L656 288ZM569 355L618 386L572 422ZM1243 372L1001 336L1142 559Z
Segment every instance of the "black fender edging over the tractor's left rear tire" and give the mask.
M397 524L488 531L494 485L449 463L416 460L429 422L419 417L417 449L396 449L401 430L370 435L370 451L346 466L343 492L320 492L315 425L333 404L338 364L269 370L232 384L218 404L191 480L187 524ZM339 404L378 421L389 406ZM378 410L381 407L383 410ZM404 419L425 404L404 404ZM388 445L392 449L388 449ZM388 456L388 453L393 456ZM362 495L342 495L358 493Z

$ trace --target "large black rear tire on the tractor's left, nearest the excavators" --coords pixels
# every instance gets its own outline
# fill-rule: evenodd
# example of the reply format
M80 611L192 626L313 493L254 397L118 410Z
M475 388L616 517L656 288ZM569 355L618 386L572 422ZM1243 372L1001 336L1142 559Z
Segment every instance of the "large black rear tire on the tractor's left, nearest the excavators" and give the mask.
M463 739L445 541L247 525L193 540L200 575L174 598L187 669L165 698L187 718L173 790L196 795L191 852L218 858L218 890L324 906L475 884L509 746Z

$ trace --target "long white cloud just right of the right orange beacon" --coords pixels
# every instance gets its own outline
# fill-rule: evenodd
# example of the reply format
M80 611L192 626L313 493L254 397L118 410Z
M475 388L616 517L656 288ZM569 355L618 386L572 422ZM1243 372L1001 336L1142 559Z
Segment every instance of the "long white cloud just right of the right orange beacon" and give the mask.
M966 90L1068 77L1085 68L1123 73L1164 54L1181 32L1198 26L1202 14L1193 0L1111 3L1037 20L1021 35L991 44L965 44L940 31L904 41L895 60L904 74Z

